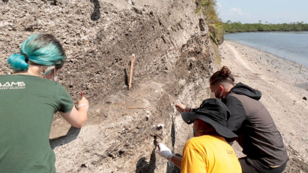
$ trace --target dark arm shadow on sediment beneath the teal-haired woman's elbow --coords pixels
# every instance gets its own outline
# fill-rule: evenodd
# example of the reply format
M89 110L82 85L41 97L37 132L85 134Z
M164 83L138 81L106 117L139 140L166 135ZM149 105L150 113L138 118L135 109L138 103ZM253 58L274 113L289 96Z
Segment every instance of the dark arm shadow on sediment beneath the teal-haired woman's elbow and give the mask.
M81 128L78 129L71 126L71 128L67 131L66 135L60 136L55 139L49 139L49 144L52 150L54 150L55 147L59 147L61 145L70 143L71 141L75 140L80 133L80 129Z

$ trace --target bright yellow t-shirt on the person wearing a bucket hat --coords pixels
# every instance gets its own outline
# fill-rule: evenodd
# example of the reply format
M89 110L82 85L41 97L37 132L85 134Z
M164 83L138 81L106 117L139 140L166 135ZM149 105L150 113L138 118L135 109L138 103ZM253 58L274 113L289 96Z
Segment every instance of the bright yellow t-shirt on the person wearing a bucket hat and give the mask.
M241 165L225 138L203 135L189 139L183 149L181 173L241 173Z

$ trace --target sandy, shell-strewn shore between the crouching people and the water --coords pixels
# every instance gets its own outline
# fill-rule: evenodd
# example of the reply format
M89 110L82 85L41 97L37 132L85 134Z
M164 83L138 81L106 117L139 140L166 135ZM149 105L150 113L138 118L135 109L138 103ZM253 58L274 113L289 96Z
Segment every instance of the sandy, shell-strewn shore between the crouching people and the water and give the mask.
M225 41L219 46L221 66L231 68L235 82L262 92L289 152L285 172L308 172L308 69L249 46ZM238 156L243 156L235 146Z

